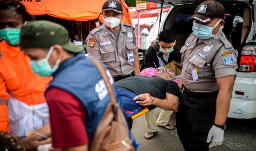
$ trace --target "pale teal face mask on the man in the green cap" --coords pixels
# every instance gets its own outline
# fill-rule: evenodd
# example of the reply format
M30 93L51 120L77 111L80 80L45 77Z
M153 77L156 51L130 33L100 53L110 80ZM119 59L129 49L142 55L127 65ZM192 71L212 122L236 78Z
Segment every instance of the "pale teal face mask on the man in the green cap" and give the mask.
M48 62L48 59L50 58L52 51L53 47L50 48L45 59L39 61L30 61L30 66L36 74L39 74L42 77L50 77L58 69L59 63L61 61L60 59L57 60L53 68L50 66L50 63Z

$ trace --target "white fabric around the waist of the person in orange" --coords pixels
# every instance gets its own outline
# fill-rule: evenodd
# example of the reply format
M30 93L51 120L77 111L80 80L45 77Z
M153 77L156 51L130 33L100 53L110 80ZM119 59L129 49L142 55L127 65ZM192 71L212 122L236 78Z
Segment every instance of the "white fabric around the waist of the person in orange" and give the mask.
M27 135L49 121L47 103L28 106L9 95L8 102L9 132L18 136Z

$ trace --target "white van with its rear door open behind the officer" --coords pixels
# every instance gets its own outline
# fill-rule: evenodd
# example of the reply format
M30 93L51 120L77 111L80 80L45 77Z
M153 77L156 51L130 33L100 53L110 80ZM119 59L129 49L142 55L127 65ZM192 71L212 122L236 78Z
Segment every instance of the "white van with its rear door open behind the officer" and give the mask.
M173 5L161 30L171 28L176 33L176 46L181 49L192 33L193 21L188 21L199 0L144 0ZM229 118L256 118L256 33L255 0L219 0L225 7L225 25L222 30L238 51L238 69L232 92Z

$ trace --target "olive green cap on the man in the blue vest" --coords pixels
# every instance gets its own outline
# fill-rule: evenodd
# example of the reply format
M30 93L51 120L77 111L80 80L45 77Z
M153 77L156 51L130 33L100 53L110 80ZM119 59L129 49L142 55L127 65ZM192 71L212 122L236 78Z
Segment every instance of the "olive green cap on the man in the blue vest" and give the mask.
M69 42L69 34L65 27L55 22L39 20L31 21L21 27L19 45L24 48L46 48L61 45L63 49L73 53L84 50Z

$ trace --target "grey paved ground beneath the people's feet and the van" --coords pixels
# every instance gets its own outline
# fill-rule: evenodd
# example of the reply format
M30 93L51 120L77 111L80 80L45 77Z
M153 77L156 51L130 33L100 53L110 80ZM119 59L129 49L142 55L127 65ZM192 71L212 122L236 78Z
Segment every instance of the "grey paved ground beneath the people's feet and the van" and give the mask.
M157 117L160 109L157 109ZM175 114L172 114L169 121L175 125ZM221 146L211 148L210 151L225 150L256 150L256 122L253 120L227 119L227 129L225 130L224 143ZM140 143L139 151L151 150L183 150L176 130L169 131L157 127L157 135L152 140L146 140L144 133L146 125L144 116L133 121L133 134Z

